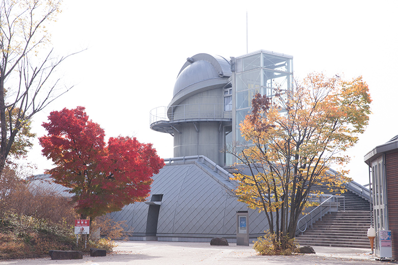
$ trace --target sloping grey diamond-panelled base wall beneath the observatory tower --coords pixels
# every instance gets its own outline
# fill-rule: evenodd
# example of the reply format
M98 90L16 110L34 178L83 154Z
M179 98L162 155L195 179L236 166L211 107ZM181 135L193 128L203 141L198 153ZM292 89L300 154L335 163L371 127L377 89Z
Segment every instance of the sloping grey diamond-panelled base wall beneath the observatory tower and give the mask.
M158 241L210 242L226 237L236 242L236 211L248 210L251 241L268 229L264 213L247 209L231 190L217 180L219 175L203 164L171 164L154 175L153 195L162 194L157 222ZM114 212L115 221L126 221L130 240L156 240L149 237L147 222L150 205L136 202Z

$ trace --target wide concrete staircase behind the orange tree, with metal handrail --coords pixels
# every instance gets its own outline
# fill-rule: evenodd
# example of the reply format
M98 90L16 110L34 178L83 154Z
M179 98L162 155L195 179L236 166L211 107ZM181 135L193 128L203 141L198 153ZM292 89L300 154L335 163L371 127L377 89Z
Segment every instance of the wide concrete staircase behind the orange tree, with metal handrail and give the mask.
M327 191L324 193L332 194ZM298 244L370 249L369 239L366 236L370 227L369 202L349 191L341 195L345 199L345 210L343 205L340 205L337 212L325 215L322 221L316 221L312 227L296 236Z

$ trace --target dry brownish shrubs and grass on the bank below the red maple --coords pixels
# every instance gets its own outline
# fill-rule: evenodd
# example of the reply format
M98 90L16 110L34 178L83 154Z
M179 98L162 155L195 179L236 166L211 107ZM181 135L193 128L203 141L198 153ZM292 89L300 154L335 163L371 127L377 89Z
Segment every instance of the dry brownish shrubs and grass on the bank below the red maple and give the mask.
M91 247L112 251L112 239L121 239L123 222L98 217L90 230L101 228L102 239L80 236L76 244L74 220L78 215L70 200L52 190L30 186L14 171L0 177L0 259L48 256L51 249L88 252Z

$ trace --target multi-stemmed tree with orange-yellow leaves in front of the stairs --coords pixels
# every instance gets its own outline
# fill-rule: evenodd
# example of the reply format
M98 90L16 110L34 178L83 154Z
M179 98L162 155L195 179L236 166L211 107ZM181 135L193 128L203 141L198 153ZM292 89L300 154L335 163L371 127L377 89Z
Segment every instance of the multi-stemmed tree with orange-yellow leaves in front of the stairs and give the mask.
M368 124L370 102L362 77L344 81L321 73L295 82L291 91L277 90L272 98L255 95L240 124L245 148L227 152L245 168L236 166L236 195L265 212L279 244L294 237L300 214L311 205L309 195L320 193L311 188L349 180L343 166L350 157L344 151ZM330 166L338 174L328 171Z

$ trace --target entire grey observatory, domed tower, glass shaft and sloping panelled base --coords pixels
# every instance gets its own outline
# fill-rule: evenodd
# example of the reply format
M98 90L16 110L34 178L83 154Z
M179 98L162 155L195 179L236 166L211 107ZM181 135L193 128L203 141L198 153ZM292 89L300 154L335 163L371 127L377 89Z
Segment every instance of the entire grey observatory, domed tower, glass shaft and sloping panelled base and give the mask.
M187 58L170 103L150 115L151 128L173 138L174 157L153 177L146 202L112 213L116 221L126 221L129 239L236 242L236 213L242 210L248 211L251 240L264 234L265 214L233 196L237 183L225 168L234 160L222 150L241 140L239 124L253 96L272 96L277 87L289 90L292 73L291 56L265 50L229 59Z

